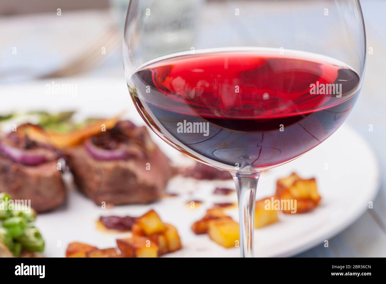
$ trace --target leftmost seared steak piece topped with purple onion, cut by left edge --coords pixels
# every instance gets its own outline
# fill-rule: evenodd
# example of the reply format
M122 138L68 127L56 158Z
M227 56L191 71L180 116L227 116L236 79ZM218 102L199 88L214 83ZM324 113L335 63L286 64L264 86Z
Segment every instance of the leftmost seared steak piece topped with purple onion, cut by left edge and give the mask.
M57 169L60 153L30 141L19 128L18 133L0 139L0 192L8 192L13 199L30 199L38 212L52 210L66 199Z

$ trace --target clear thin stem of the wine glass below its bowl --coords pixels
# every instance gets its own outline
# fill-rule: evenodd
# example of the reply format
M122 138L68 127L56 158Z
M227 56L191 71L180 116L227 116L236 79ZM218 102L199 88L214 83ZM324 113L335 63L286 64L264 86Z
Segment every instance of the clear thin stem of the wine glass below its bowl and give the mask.
M255 199L260 172L253 174L232 173L239 200L241 257L253 257L255 224Z

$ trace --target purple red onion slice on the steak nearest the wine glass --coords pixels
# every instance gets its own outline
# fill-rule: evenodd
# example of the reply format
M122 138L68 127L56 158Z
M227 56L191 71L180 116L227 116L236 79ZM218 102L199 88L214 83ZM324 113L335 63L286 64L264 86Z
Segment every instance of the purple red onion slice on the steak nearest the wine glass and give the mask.
M91 138L85 140L85 147L88 153L96 160L110 161L110 160L124 160L130 157L141 155L139 151L129 149L124 146L119 146L117 149L106 150L94 145Z

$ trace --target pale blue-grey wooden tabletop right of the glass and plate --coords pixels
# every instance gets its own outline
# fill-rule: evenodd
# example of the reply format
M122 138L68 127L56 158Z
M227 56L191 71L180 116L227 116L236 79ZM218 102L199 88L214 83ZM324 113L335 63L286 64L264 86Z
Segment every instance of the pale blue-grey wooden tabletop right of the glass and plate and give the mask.
M297 257L386 257L386 1L362 0L367 32L366 75L358 102L347 122L375 151L381 169L381 187L374 208L339 235ZM369 54L369 47L373 54ZM373 131L369 131L369 124ZM361 153L352 153L361 155ZM361 168L353 177L361 178ZM366 190L366 189L363 189Z

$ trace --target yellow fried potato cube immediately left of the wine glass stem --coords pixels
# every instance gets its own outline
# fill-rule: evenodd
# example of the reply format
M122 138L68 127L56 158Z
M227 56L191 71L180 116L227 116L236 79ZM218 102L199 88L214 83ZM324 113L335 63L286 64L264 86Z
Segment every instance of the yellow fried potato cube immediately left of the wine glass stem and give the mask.
M209 222L210 238L225 248L234 247L239 240L239 223L229 219L215 219Z

